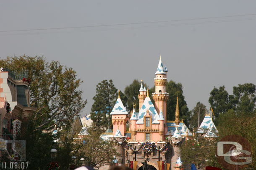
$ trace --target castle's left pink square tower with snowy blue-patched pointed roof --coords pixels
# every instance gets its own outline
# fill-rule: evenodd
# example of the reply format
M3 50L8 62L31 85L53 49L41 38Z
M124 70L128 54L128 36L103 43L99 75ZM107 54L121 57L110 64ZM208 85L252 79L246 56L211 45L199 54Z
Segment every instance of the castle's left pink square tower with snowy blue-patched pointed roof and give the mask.
M118 91L118 99L115 102L115 106L112 109L112 112L110 113L110 115L112 116L113 133L115 134L119 129L121 134L124 136L125 125L127 120L129 119L129 114L126 111L125 107L123 106L123 103L119 96L119 91Z

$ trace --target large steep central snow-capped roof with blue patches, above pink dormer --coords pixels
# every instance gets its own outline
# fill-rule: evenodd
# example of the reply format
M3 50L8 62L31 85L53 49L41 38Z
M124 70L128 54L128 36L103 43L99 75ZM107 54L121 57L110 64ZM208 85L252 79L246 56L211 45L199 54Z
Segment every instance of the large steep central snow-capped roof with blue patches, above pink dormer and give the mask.
M146 111L149 110L149 114L152 117L152 124L159 124L157 118L159 117L157 110L154 107L154 104L150 100L149 96L146 96L144 103L141 106L140 111L138 112L138 120L136 124L144 124L144 116L146 115Z

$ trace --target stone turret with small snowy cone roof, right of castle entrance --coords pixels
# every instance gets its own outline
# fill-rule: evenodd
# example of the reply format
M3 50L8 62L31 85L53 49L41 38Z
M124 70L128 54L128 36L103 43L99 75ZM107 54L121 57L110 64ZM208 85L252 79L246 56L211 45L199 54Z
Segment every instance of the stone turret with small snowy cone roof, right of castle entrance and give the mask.
M180 149L180 145L183 142L183 138L180 135L180 131L178 129L178 126L176 126L176 130L173 134L173 136L171 137L172 142L172 158L171 158L171 167L175 167L175 162L176 160L178 160L178 157L180 157L181 155L181 149Z

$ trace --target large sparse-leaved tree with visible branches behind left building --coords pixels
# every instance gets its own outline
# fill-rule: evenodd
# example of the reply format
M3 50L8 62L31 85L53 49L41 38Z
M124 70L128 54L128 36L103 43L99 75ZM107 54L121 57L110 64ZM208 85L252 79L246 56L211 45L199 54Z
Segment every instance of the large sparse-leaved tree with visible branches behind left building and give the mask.
M76 71L58 61L48 62L39 56L14 56L1 59L0 65L16 74L28 72L30 106L37 109L31 117L34 130L50 133L57 127L70 126L73 117L86 104L82 91L78 90L83 81L77 79Z

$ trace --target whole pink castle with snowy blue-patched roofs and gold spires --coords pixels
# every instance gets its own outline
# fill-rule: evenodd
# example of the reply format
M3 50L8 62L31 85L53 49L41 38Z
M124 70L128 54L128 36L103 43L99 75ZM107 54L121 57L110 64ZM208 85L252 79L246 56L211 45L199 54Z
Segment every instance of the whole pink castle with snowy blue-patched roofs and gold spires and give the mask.
M128 114L118 97L110 113L113 133L103 135L105 138L114 137L117 142L116 149L121 153L121 156L117 157L118 162L129 164L134 170L142 170L145 160L151 170L162 169L162 166L173 169L181 157L182 142L192 136L183 120L179 118L178 96L175 120L167 120L167 72L160 56L154 78L155 92L149 94L143 84L138 89L139 112L136 113L133 108L132 114ZM152 95L154 101L151 101L149 95Z

